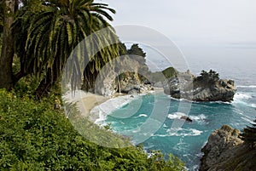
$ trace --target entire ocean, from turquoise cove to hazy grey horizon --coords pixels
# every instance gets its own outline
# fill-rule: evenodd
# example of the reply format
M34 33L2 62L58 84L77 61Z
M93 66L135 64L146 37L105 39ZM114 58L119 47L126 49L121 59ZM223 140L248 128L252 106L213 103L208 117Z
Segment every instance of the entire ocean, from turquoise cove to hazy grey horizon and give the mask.
M209 58L201 58L189 49L186 52L191 54L187 60L193 73L214 69L220 77L235 80L237 92L232 102L175 100L154 92L137 96L113 111L104 122L111 123L114 132L131 137L134 144L142 143L146 151L161 150L166 156L172 153L186 163L188 170L194 171L199 168L201 148L212 131L224 124L241 130L255 119L256 70L252 59L256 51L255 48L224 48L223 51L218 48L218 54L208 54ZM154 63L159 64L160 69L168 67L165 60ZM181 122L178 118L183 115L188 115L193 122Z

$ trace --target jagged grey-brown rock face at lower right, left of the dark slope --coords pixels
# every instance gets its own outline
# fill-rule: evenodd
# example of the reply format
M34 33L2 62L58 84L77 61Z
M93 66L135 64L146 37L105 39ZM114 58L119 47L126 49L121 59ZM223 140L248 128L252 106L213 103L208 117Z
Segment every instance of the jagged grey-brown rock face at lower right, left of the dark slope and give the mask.
M200 170L219 170L220 163L234 157L237 146L243 141L238 138L239 130L228 125L215 130L208 138L207 145L202 148L204 156L201 158Z

